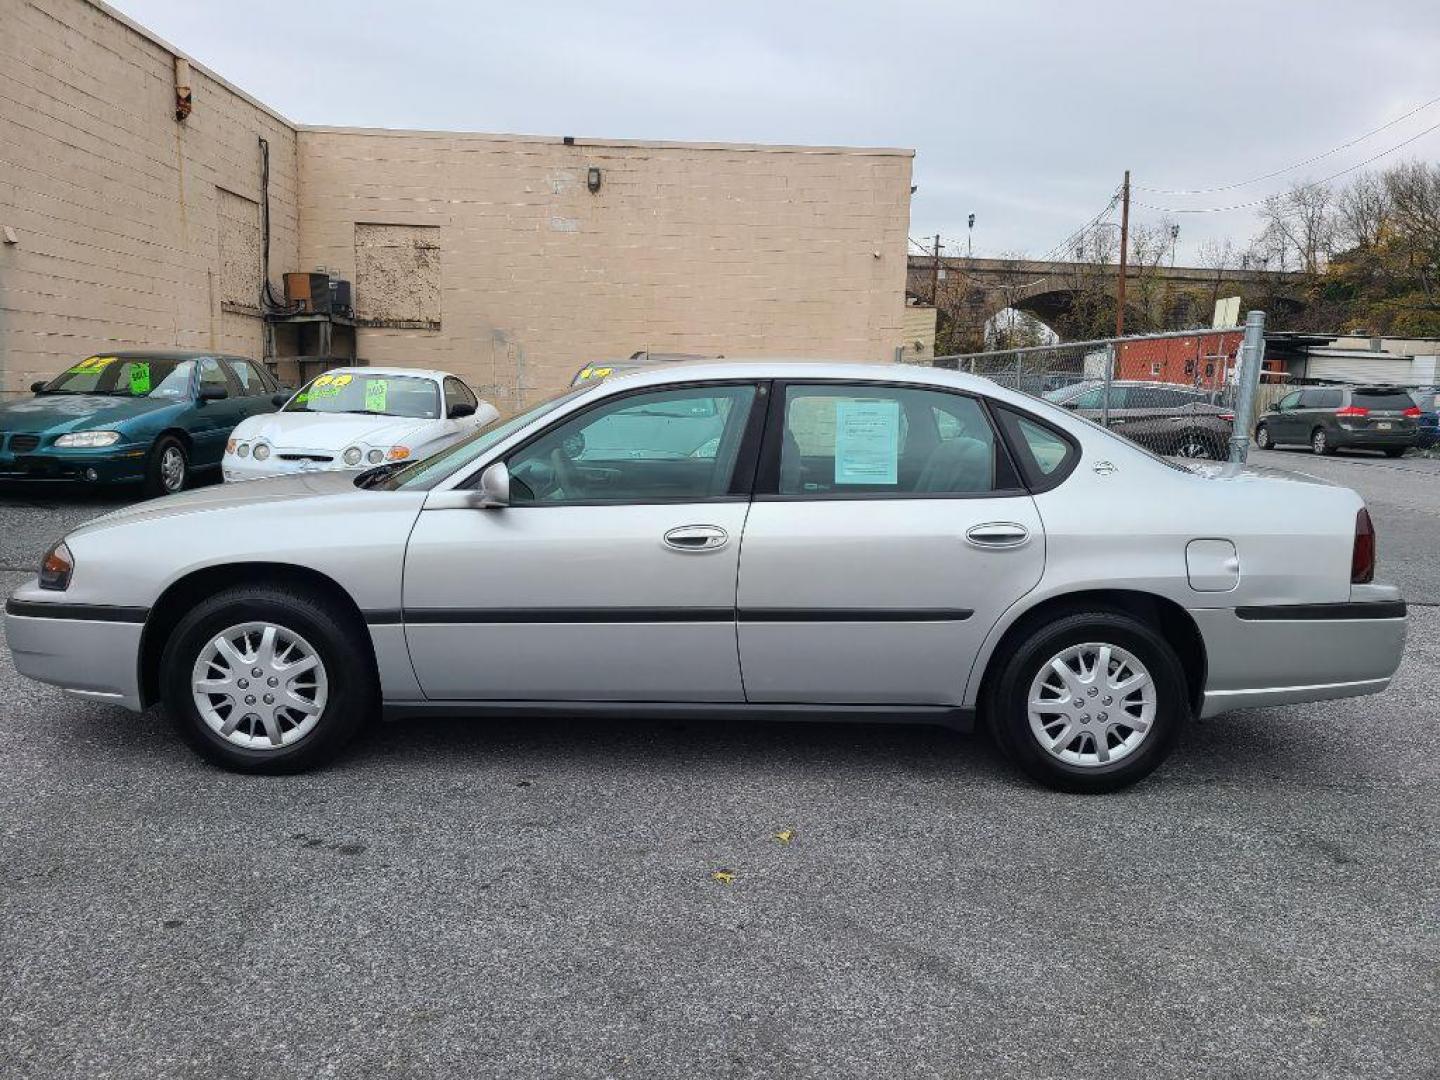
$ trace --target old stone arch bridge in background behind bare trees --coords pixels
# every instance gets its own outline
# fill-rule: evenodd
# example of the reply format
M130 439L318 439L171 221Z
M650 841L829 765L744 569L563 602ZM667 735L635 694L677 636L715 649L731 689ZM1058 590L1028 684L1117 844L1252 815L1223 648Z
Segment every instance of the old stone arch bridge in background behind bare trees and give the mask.
M935 256L912 255L906 294L920 302L937 300L945 318L976 331L996 312L1015 308L1034 315L1061 338L1073 338L1079 297L1107 305L1113 320L1116 271L1115 264L942 256L935 298ZM1132 266L1126 275L1126 323L1140 330L1146 317L1153 323L1158 314L1165 325L1208 325L1215 300L1237 294L1247 305L1295 310L1302 305L1299 278L1284 271Z

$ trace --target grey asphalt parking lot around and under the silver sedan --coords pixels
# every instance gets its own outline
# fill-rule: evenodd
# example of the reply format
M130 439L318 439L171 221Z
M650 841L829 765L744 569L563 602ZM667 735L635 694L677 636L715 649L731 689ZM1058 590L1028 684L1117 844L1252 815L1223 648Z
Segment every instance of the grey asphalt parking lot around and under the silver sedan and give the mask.
M829 724L408 721L240 778L0 645L0 1074L1440 1076L1440 461L1254 459L1367 497L1405 664L1106 798ZM121 501L0 494L0 586Z

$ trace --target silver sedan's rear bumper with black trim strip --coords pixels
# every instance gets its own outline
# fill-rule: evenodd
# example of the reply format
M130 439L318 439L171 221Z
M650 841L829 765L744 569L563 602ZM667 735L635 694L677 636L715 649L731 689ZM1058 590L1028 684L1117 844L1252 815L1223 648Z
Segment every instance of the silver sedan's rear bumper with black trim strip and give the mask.
M1405 605L1390 586L1358 588L1368 595L1354 603L1191 609L1208 665L1201 716L1388 687L1405 648Z

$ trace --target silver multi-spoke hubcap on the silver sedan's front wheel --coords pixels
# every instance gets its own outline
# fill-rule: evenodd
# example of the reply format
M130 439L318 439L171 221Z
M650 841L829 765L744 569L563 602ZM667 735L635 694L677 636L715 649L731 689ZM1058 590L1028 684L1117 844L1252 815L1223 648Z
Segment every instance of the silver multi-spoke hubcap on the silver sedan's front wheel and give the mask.
M320 654L302 636L268 622L243 622L200 649L190 690L210 730L248 750L278 750L320 723L330 681Z

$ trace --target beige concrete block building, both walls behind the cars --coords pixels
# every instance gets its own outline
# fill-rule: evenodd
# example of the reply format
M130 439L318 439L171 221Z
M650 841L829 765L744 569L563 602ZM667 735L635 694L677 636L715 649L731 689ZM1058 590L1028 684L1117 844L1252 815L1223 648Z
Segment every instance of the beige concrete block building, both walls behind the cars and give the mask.
M353 282L361 360L503 410L636 348L891 360L912 151L301 127L94 0L0 0L0 387L104 348L262 354ZM13 32L12 32L13 30Z

